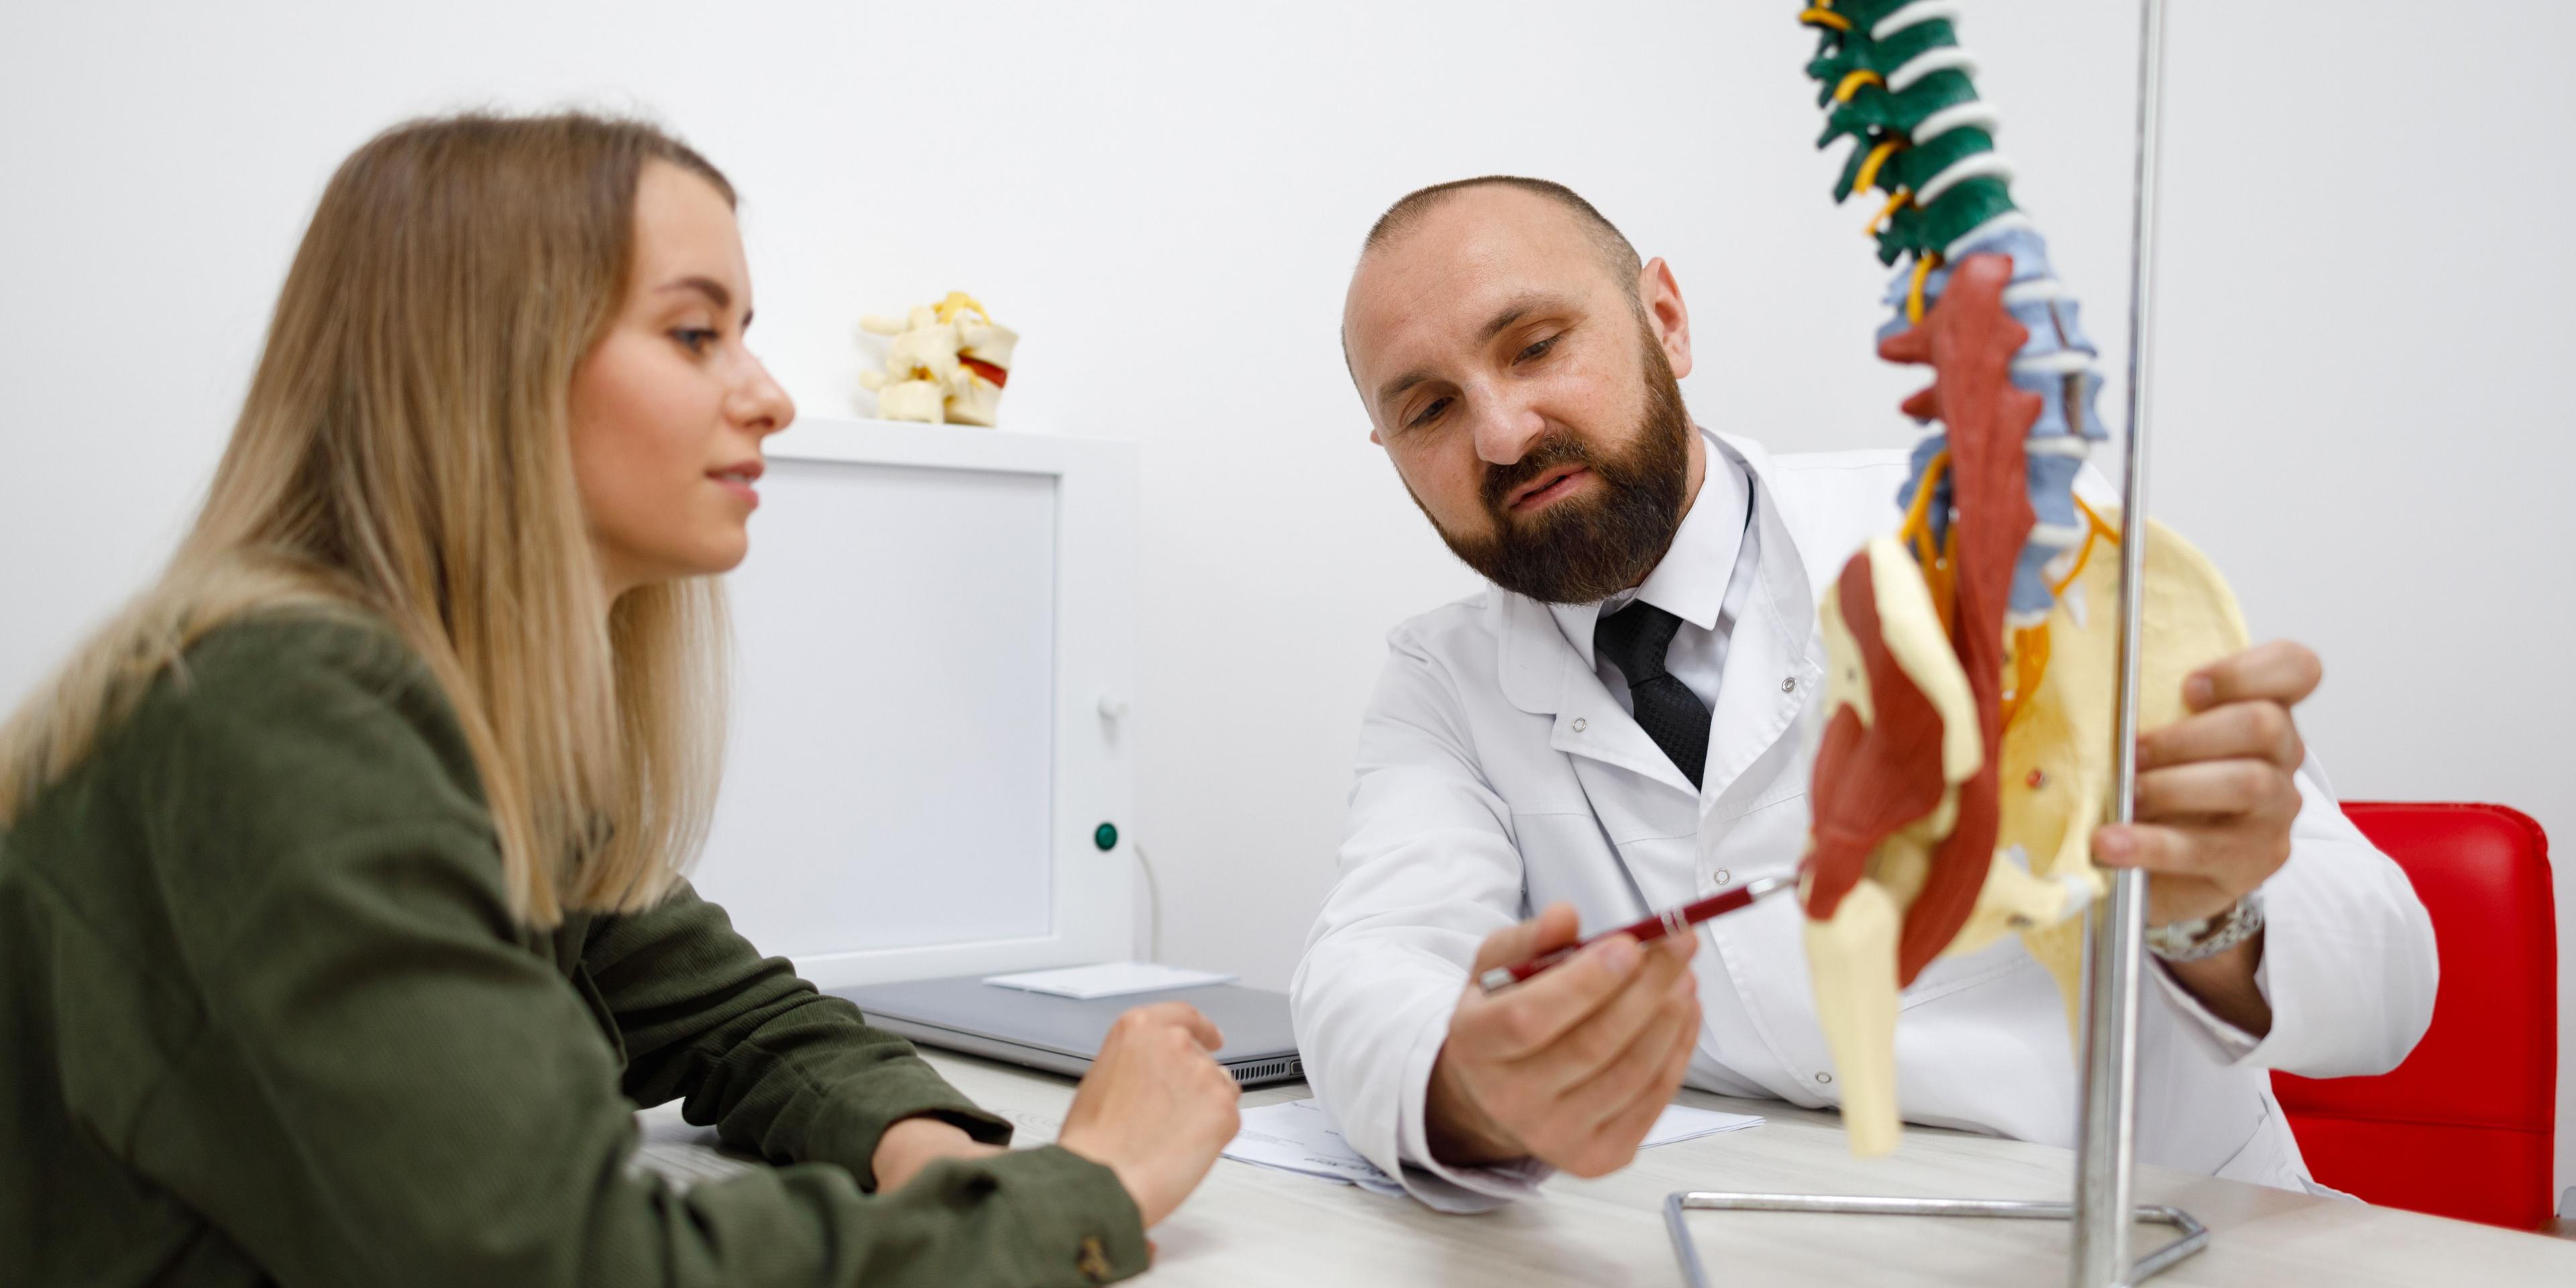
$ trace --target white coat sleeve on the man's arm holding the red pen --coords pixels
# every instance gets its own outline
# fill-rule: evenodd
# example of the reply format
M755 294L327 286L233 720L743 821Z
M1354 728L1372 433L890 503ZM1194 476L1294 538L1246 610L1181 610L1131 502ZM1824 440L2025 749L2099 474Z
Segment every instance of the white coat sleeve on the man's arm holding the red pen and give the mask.
M1432 1208L1486 1211L1551 1170L1432 1162L1425 1108L1476 945L1525 914L1520 850L1448 672L1401 631L1388 644L1340 878L1291 984L1298 1054L1352 1149Z

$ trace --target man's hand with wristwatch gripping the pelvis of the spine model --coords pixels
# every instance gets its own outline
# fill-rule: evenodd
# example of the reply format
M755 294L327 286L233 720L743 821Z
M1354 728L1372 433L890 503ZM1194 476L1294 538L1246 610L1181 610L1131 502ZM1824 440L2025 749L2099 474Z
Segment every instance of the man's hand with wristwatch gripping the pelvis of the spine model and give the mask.
M2324 665L2272 641L2182 680L2190 716L2138 739L2138 822L2094 832L2105 868L2146 868L2146 922L2226 912L2290 860L2290 819L2308 757L2290 708Z

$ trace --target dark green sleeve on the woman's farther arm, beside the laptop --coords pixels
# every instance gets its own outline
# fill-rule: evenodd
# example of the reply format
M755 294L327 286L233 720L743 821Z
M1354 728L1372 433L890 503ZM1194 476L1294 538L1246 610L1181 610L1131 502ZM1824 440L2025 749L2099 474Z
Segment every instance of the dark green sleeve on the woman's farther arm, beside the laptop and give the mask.
M876 1141L904 1118L1010 1144L1010 1123L958 1095L912 1043L819 994L786 958L762 958L685 884L647 912L595 922L582 966L626 1043L626 1097L685 1097L683 1118L734 1149L837 1162L873 1190Z

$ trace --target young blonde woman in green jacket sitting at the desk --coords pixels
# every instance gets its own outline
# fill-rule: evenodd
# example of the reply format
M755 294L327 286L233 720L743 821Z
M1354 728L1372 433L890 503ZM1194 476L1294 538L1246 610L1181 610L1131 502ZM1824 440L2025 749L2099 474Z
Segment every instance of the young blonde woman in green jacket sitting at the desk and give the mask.
M0 1283L1097 1283L1234 1131L1128 1015L1056 1146L677 876L760 443L724 175L590 116L330 180L170 569L0 732ZM781 1162L675 1190L634 1105Z

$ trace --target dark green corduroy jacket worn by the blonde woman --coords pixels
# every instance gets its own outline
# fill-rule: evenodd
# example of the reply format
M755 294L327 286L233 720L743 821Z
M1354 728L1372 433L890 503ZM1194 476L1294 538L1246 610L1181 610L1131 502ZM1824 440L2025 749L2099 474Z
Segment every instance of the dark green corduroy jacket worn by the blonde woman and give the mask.
M775 1170L677 1188L634 1110ZM1144 1267L1010 1123L685 886L536 933L453 708L363 621L224 626L0 832L0 1285L1056 1285Z

